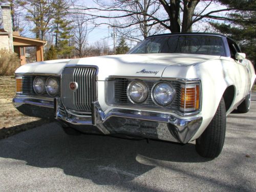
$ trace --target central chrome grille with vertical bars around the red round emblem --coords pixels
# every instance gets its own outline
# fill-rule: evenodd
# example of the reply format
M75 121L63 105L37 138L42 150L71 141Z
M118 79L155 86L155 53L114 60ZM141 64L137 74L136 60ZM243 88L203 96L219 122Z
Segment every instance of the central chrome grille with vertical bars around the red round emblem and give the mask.
M77 82L78 89L70 90L70 82ZM61 101L74 111L92 111L92 102L96 100L96 69L65 68L61 79Z

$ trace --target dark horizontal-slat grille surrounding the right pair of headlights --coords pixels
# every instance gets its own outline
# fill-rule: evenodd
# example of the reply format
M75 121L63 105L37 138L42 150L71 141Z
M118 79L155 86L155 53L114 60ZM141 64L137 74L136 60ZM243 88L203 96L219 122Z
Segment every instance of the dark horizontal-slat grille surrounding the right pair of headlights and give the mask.
M122 105L132 105L132 102L127 98L126 90L128 84L131 82L131 79L126 78L116 78L115 79L115 104L122 104ZM154 80L144 80L143 81L147 88L148 88L148 97L146 101L142 104L136 104L137 106L146 107L146 108L162 108L161 106L158 106L155 104L155 102L151 98L151 90L154 86L154 84L158 81ZM176 97L175 100L168 106L164 106L166 110L179 110L179 103L180 103L180 82L178 81L168 81L170 82L176 90ZM134 104L133 104L134 105Z

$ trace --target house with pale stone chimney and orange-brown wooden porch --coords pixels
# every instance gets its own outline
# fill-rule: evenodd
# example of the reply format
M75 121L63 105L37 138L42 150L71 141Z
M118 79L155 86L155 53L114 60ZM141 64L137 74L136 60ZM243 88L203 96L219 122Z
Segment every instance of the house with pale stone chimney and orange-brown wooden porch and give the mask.
M18 32L12 31L11 7L1 5L3 27L0 29L0 49L7 49L18 54L20 63L26 63L26 47L36 47L36 61L44 60L45 40L22 37Z

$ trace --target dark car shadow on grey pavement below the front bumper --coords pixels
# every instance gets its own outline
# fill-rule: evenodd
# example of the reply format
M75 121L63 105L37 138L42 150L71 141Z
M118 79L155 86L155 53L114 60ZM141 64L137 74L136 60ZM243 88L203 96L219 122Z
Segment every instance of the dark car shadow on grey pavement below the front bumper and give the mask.
M27 165L63 169L66 175L91 179L97 184L117 184L138 177L154 161L205 162L194 144L127 140L108 136L68 136L56 123L48 123L0 140L0 157Z

